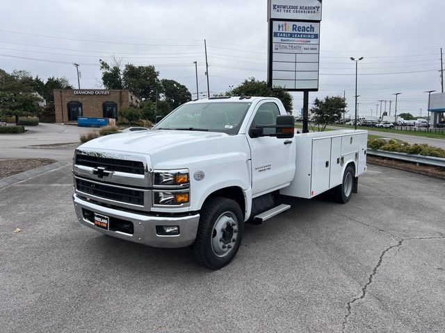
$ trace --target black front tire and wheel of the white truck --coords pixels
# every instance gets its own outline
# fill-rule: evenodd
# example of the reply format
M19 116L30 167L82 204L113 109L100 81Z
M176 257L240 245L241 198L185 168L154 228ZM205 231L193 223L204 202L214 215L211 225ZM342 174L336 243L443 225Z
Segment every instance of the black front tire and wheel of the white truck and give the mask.
M228 198L211 198L202 206L193 255L199 264L220 269L235 257L243 237L243 212Z

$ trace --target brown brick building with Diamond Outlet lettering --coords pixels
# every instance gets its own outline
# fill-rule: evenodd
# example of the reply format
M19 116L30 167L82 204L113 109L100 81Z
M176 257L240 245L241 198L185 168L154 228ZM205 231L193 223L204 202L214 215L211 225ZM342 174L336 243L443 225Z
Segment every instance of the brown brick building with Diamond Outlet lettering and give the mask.
M56 123L76 122L77 117L114 118L123 106L139 108L140 99L129 90L54 89Z

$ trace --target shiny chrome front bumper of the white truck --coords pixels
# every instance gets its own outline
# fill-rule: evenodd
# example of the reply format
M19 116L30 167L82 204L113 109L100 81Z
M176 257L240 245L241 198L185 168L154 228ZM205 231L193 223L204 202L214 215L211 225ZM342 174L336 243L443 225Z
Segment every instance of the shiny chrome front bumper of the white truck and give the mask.
M109 236L145 244L147 246L154 246L156 248L182 248L193 244L193 241L195 241L197 226L200 222L200 214L173 217L143 215L96 205L95 203L90 203L79 198L76 194L73 194L72 198L78 221L83 225L108 234ZM133 233L129 234L126 232L97 228L93 221L90 221L90 219L84 216L85 210L110 218L129 221L133 223ZM177 225L179 226L180 233L168 236L159 235L156 234L156 225Z

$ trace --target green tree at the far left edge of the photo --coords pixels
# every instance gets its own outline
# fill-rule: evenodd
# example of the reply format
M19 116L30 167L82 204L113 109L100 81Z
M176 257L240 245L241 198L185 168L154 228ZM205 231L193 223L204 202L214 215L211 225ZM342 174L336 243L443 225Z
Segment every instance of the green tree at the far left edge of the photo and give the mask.
M38 97L33 95L33 78L26 71L13 71L12 74L0 69L0 110L6 117L19 117L38 114Z

